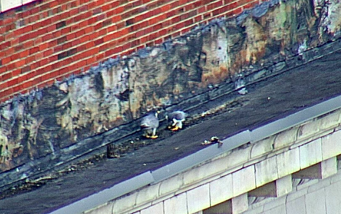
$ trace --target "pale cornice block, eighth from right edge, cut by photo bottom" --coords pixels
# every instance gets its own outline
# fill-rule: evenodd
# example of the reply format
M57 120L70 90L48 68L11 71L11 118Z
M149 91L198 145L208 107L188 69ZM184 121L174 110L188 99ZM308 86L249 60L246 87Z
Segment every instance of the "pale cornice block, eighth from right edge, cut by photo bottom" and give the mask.
M164 214L187 214L186 192L164 201Z

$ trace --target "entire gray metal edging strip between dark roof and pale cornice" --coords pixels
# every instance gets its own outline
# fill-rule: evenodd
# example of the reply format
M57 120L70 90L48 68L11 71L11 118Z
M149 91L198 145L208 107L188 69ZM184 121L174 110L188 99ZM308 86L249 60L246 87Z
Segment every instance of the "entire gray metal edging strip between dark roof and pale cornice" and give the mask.
M311 107L285 116L253 130L244 130L231 137L222 140L221 147L210 145L187 157L181 158L173 163L163 166L154 171L147 171L131 179L118 183L108 189L104 189L96 194L90 195L84 199L78 200L72 204L66 205L51 214L76 214L81 213L110 200L128 194L141 187L155 184L171 176L179 174L187 169L197 166L215 156L231 151L234 148L242 146L248 142L256 142L270 135L279 133L285 129L291 128L300 123L304 123L315 117L324 115L341 108L341 96L337 96L324 102L315 104Z

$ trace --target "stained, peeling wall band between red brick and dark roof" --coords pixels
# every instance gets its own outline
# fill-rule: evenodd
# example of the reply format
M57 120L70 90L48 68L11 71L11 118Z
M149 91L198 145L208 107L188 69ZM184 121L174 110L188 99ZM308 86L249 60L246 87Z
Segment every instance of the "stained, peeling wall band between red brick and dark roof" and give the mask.
M135 119L152 108L189 109L335 51L337 41L321 48L325 52L302 52L338 38L341 17L333 11L340 7L336 1L265 2L3 103L1 181L23 179L133 133Z

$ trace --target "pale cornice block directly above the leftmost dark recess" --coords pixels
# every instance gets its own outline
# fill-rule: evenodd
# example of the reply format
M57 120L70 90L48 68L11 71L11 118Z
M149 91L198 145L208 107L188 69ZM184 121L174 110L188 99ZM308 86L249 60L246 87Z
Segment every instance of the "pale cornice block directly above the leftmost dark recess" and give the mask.
M211 181L209 185L211 206L233 197L232 174L228 174L217 180Z

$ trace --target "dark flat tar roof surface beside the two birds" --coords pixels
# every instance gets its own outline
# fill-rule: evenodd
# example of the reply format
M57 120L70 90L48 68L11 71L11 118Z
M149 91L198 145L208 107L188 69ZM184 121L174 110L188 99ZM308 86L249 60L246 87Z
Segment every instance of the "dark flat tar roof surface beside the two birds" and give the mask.
M245 130L257 133L261 126L341 95L340 54L341 51L334 52L250 85L246 95L235 93L212 100L196 111L219 106L227 100L235 100L236 104L229 106L228 111L202 119L179 132L162 134L163 130L159 130L159 139L150 140L146 146L120 158L104 159L86 170L57 177L32 191L1 199L1 213L52 212L140 174L146 176L144 181L161 180L164 174L158 175L157 169L206 148L201 143L211 136L226 139ZM337 99L334 101L339 102ZM148 175L150 171L154 172L154 177Z

